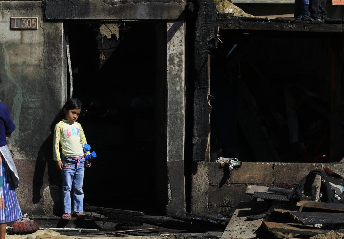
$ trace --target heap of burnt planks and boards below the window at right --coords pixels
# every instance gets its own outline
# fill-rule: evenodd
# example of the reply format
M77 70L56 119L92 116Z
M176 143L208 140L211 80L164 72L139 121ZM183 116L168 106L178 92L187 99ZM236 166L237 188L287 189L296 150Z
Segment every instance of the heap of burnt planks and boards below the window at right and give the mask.
M322 181L316 175L298 200L291 197L294 189L249 185L245 193L252 202L238 205L221 238L311 238L331 231L344 233L343 200L320 202Z

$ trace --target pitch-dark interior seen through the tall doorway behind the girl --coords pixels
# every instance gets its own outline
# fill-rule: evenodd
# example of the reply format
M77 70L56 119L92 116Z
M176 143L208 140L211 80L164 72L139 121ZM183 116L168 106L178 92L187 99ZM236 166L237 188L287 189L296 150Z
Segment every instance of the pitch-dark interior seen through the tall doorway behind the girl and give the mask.
M155 24L73 23L68 33L73 97L84 103L78 121L97 153L84 202L163 213L155 193L163 182L154 179Z

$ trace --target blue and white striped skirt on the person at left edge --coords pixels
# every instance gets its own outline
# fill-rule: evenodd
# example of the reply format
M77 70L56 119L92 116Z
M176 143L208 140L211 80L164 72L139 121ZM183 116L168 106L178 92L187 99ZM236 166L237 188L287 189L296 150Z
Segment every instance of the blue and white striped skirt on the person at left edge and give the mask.
M0 223L8 223L22 217L17 194L12 183L11 171L0 155Z

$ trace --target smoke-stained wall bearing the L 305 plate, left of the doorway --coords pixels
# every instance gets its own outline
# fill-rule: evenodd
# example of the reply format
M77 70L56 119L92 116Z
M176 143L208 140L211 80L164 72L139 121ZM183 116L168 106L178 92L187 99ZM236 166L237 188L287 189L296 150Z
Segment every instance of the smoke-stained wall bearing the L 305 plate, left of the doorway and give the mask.
M41 190L48 185L47 159L52 158L50 126L66 99L63 26L44 22L43 7L42 1L0 2L0 100L17 127L8 146L19 172L23 213L43 213ZM10 30L11 17L37 18L38 27ZM56 177L50 176L52 183Z

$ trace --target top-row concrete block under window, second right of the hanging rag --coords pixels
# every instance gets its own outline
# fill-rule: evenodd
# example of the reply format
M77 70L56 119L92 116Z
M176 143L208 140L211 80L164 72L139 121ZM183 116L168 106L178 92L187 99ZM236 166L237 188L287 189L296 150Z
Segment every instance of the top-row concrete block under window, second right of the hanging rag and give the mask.
M273 183L299 183L310 171L317 168L314 163L275 163Z

